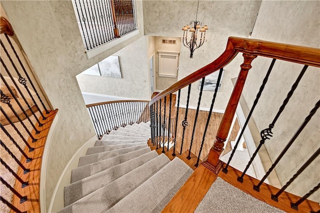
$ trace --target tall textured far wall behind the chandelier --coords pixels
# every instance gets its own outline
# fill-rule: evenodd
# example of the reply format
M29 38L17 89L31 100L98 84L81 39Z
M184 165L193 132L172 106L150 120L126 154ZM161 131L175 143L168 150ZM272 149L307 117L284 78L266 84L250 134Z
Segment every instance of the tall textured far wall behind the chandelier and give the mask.
M196 49L193 58L181 45L178 80L216 59L225 49L229 36L247 37L252 30L260 1L199 1L198 20L207 24L206 42ZM181 37L181 28L195 18L196 0L146 0L143 1L144 33L154 36ZM237 76L241 57L225 67L221 89L214 109L224 110L233 85L231 78ZM199 82L191 86L190 105L196 106ZM186 90L182 89L180 104L186 102ZM201 107L210 107L213 92L203 91Z

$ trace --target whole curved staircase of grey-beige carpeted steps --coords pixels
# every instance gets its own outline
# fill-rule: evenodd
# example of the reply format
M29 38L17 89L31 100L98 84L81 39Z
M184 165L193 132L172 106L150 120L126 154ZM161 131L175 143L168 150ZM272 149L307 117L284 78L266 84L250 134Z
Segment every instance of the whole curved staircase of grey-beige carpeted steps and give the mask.
M59 212L159 212L191 175L147 145L148 123L112 130L97 140L72 169Z

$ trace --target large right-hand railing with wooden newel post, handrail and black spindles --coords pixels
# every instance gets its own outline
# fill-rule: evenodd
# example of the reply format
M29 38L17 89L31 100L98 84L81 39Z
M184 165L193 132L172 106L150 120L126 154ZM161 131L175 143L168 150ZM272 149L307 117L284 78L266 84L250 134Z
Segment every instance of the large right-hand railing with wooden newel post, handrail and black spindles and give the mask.
M199 104L201 101L201 94L202 94L202 89L203 89L203 79L206 75L208 75L212 72L215 72L215 71L219 71L215 91L213 93L213 97L212 97L212 101L211 101L211 106L210 106L210 109L208 112L208 117L206 119L206 125L203 130L203 136L202 136L202 140L201 140L201 144L200 144L200 149L199 149L198 153L196 153L197 154L197 162L195 163L194 166L198 166L199 157L200 157L200 154L201 154L201 151L203 148L203 142L205 140L205 136L206 136L206 133L208 130L208 124L210 121L210 116L211 116L213 104L215 101L216 91L217 91L217 87L219 85L219 81L221 79L223 67L225 65L227 65L236 56L236 54L238 52L242 52L243 63L240 65L240 71L239 71L236 83L234 85L233 91L231 93L231 96L229 98L228 104L226 106L225 112L223 114L222 120L220 122L219 128L217 130L213 146L210 148L207 157L202 162L202 164L205 167L207 167L208 169L210 169L211 171L213 171L215 173L218 173L223 165L222 161L219 160L219 156L220 156L221 152L223 151L224 141L226 140L228 132L230 130L230 126L231 126L231 122L232 122L232 119L235 114L236 106L239 102L239 98L242 93L242 89L244 86L246 76L248 74L249 69L251 68L252 60L254 58L256 58L257 56L272 58L271 64L268 68L268 71L267 71L263 81L262 81L260 89L256 94L256 98L255 98L253 105L250 109L250 112L247 116L245 124L242 127L242 130L240 132L240 136L238 137L238 140L236 141L235 147L233 148L233 151L231 153L231 156L230 156L227 164L223 168L223 172L225 172L225 173L227 173L227 171L228 171L227 170L228 165L233 157L233 154L234 154L235 149L240 141L240 138L243 134L243 131L244 131L244 129L245 129L245 127L246 127L246 125L247 125L247 123L248 123L248 121L254 111L254 108L255 108L255 106L261 96L261 93L264 89L264 85L267 82L268 76L269 76L270 72L272 71L272 68L273 68L275 61L276 60L284 60L284 61L290 61L290 62L299 63L299 64L304 65L302 70L300 71L299 76L297 77L297 79L293 83L291 89L288 91L286 98L283 100L282 105L279 107L278 112L275 114L273 121L268 125L267 128L265 128L261 131L261 141L260 141L258 147L256 148L256 151L253 153L251 159L247 163L246 168L244 169L242 174L237 177L237 180L239 182L242 182L243 176L245 175L246 170L248 169L248 167L252 163L252 161L253 161L254 157L256 156L257 152L259 151L261 145L265 142L265 140L270 139L270 137L272 136L272 128L274 127L276 120L281 115L283 109L285 108L286 104L288 103L290 97L292 96L295 88L297 87L297 85L298 85L300 79L302 78L303 74L305 73L307 67L308 66L320 67L320 49L311 48L311 47L296 46L296 45L289 45L289 44L282 44L282 43L275 43L275 42L269 42L269 41L263 41L263 40L257 40L257 39L229 37L225 51L217 59L215 59L213 62L207 64L206 66L198 69L197 71L193 72L192 74L184 77L183 79L179 80L178 82L174 83L170 87L166 88L165 90L163 90L162 92L157 94L155 97L153 97L150 100L149 106L150 106L151 116L160 118L162 116L161 102L163 102L163 101L165 102L166 97L171 95L173 92L177 93L177 98L176 98L177 106L175 107L176 126L174 128L175 132L173 135L176 135L177 132L179 132L180 133L180 137L179 137L180 140L177 141L177 139L176 139L177 136L175 136L175 138L173 139L174 148L172 150L172 155L175 155L176 152L178 151L178 150L175 150L176 146L180 147L179 154L181 154L183 142L185 142L184 141L184 134L186 132L188 123L193 122L193 129L192 130L188 129L188 134L191 134L192 136L191 136L191 141L188 142L188 145L189 145L188 146L188 156L186 158L190 159L190 153L191 153L191 149L192 149L192 140L193 140L194 131L196 129L197 114L199 112ZM188 105L189 105L189 95L190 95L191 83L198 81L201 78L202 78L202 82L200 84L200 91L199 91L198 104L197 104L197 108L196 108L196 112L195 112L195 117L193 118L193 120L189 120L187 114L188 114ZM187 87L186 108L184 109L184 114L181 114L181 113L179 114L178 111L181 110L181 107L179 108L179 104L181 104L180 103L180 95L181 95L181 90L184 87ZM158 104L158 103L160 103L160 104ZM160 107L158 107L157 105L160 105ZM296 132L294 133L292 138L288 141L287 145L282 150L282 152L279 154L277 159L273 162L272 166L268 169L268 171L263 176L263 178L256 185L254 185L254 190L259 191L260 185L267 178L267 176L270 174L270 172L274 169L274 167L276 166L278 161L286 153L288 148L291 146L291 144L294 142L294 140L300 134L300 132L303 130L303 128L307 125L308 121L314 115L314 113L316 112L316 110L318 109L319 106L320 106L320 100L318 102L316 102L313 107L310 108L309 114L305 115L304 121L301 123L300 127L296 130ZM154 109L156 109L156 110L154 110ZM181 123L178 122L179 116L184 116ZM161 121L160 119L159 119L158 123L155 123L154 119L151 118L151 127L152 127L151 132L152 131L156 132L156 131L160 130L159 126L163 125L163 123L165 123L165 122ZM158 128L158 129L156 129L156 128ZM151 140L152 140L153 144L157 144L157 141L158 141L157 138L154 136L154 134L151 134L151 135L152 135ZM298 171L288 180L288 182L277 193L272 194L272 196L270 198L276 201L278 199L279 195L284 191L284 189L293 182L293 180L315 159L315 157L317 157L319 155L319 152L320 152L319 149L316 150L312 154L312 156L310 156L310 158L301 166L301 168L298 169ZM294 209L297 209L298 205L301 202L303 202L310 194L312 194L314 191L316 191L318 188L319 188L319 184L314 186L314 188L310 188L310 191L307 194L305 194L303 197L301 197L300 200L295 201L295 202L292 201L290 204L291 207Z

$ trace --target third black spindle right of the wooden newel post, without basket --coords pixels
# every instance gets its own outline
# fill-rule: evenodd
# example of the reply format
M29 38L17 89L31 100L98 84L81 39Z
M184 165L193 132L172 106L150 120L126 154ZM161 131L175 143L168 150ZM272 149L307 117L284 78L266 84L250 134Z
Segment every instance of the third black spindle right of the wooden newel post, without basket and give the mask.
M291 139L289 140L289 142L285 145L284 149L281 151L281 153L278 155L278 157L275 159L275 161L273 162L273 164L271 165L271 167L269 168L269 170L265 173L265 175L262 177L262 179L260 180L260 182L257 185L253 186L253 189L256 191L259 191L259 187L260 185L263 183L263 181L265 180L265 178L270 174L270 172L273 170L273 168L276 166L276 164L280 161L280 159L282 158L282 156L285 154L285 152L288 150L288 148L291 146L291 144L294 142L294 140L297 138L297 136L301 133L301 131L303 130L303 128L306 126L306 124L310 121L311 117L314 115L314 113L316 112L316 110L319 108L320 106L320 100L318 100L315 104L315 106L311 109L311 111L309 112L309 114L305 117L304 121L302 122L302 124L299 126L299 128L296 130L296 132L294 133L294 135L291 137Z

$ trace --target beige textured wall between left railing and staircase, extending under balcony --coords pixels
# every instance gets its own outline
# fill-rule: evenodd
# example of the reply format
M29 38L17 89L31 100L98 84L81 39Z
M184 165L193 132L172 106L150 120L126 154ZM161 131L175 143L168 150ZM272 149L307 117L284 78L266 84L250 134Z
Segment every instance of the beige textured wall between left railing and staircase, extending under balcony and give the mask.
M67 161L94 135L75 75L143 35L142 2L135 4L139 35L89 60L70 0L2 0L1 4L51 104L59 109L45 181L48 207Z

